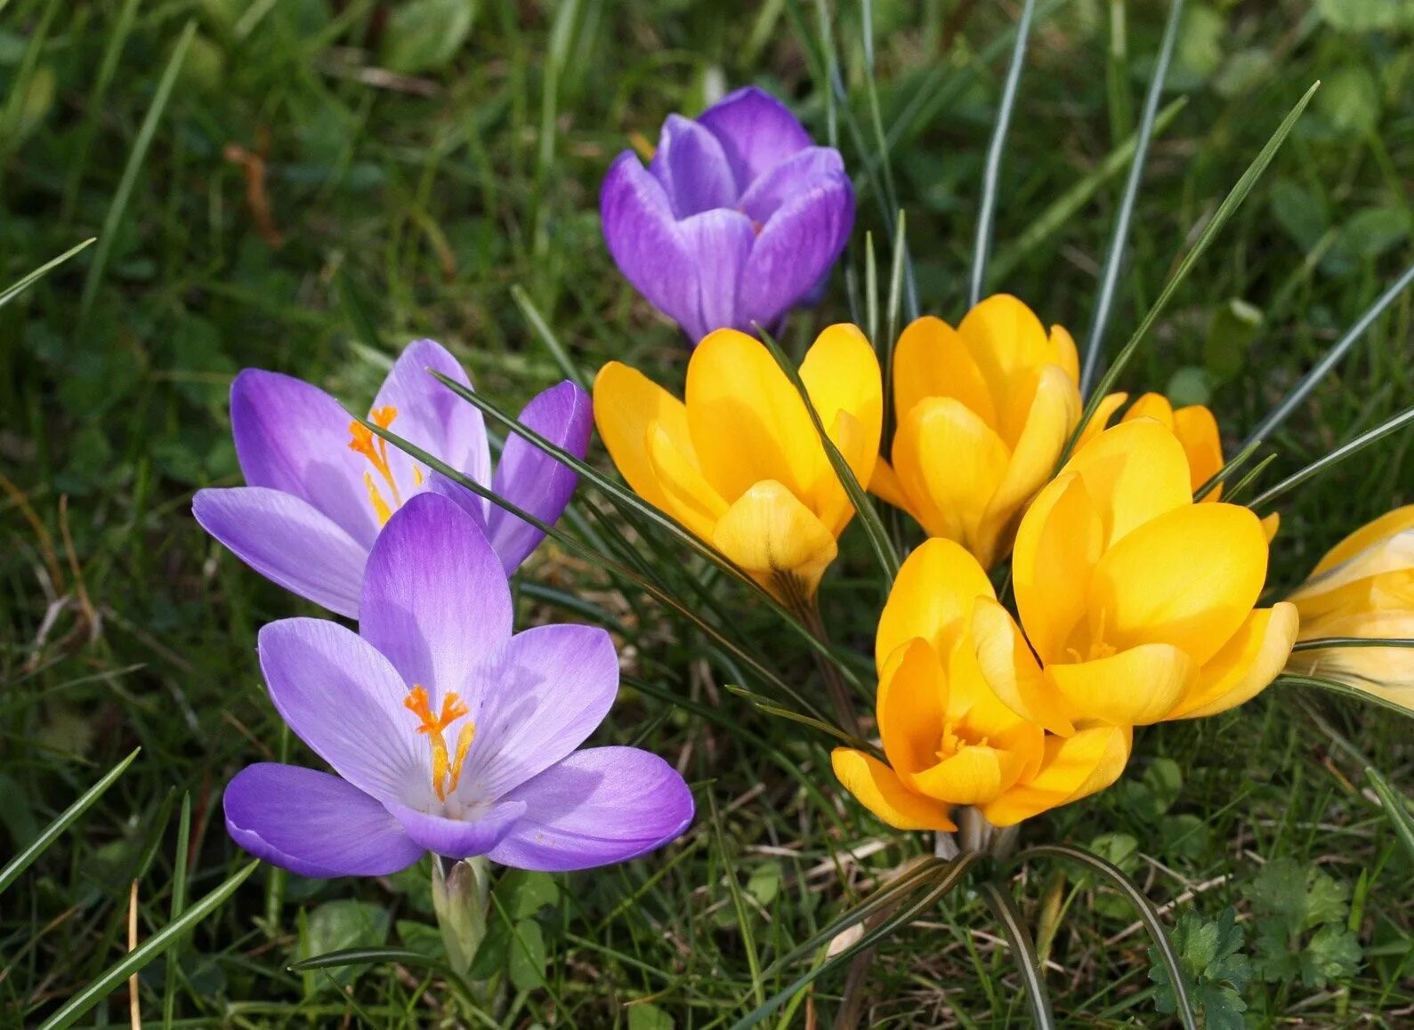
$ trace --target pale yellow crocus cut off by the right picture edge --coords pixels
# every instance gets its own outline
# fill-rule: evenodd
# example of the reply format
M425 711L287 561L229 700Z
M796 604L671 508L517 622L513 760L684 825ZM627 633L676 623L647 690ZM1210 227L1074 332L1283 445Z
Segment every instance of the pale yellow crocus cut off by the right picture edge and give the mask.
M1298 640L1414 639L1414 504L1332 547L1290 599L1301 612ZM1297 651L1287 664L1414 712L1414 647L1319 647Z

